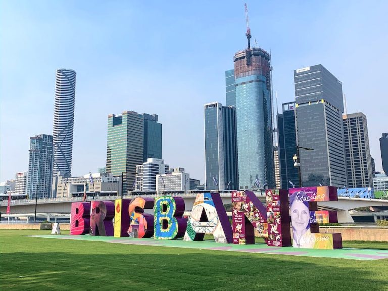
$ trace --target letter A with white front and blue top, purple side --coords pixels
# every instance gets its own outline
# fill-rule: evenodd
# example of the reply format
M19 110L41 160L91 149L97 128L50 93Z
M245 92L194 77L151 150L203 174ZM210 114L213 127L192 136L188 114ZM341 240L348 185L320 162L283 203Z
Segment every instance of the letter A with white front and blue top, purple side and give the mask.
M219 193L197 194L184 240L203 240L205 234L212 234L217 243L232 243L232 229Z

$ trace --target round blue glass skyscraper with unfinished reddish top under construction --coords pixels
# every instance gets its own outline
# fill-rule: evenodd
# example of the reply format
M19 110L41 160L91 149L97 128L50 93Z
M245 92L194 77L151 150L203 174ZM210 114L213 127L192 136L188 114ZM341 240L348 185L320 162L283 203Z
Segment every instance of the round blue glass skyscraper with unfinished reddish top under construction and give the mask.
M234 55L240 189L258 183L275 187L271 70L270 55L263 49L248 45Z

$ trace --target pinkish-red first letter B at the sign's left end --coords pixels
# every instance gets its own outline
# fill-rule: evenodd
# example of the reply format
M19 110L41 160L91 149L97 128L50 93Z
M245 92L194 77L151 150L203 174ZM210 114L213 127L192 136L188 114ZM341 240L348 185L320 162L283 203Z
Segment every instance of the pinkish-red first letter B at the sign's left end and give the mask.
M86 234L90 231L90 202L71 204L70 234Z

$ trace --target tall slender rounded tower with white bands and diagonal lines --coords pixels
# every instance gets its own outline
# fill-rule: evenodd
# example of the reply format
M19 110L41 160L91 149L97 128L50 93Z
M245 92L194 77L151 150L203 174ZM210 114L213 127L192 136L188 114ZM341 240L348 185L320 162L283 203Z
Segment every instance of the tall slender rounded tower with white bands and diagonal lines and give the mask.
M54 176L59 172L63 175L71 175L75 76L76 72L70 69L57 69L55 76L53 125Z

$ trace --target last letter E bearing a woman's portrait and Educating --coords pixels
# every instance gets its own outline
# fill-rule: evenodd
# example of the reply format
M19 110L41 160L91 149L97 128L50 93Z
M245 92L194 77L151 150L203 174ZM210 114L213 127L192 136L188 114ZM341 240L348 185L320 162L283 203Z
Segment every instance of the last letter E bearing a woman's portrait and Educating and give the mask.
M341 249L341 233L319 233L319 223L337 222L337 213L318 211L317 205L317 201L338 201L337 188L293 188L289 194L293 247Z

